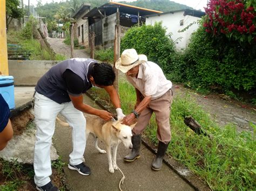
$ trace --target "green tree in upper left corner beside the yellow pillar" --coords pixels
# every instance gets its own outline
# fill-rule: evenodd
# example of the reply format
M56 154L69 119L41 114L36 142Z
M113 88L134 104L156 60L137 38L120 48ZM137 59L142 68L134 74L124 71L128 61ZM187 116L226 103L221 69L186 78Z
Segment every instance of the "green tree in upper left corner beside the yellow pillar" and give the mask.
M21 2L19 0L6 1L6 29L8 30L9 24L13 18L22 18L24 16L24 10L19 8Z

